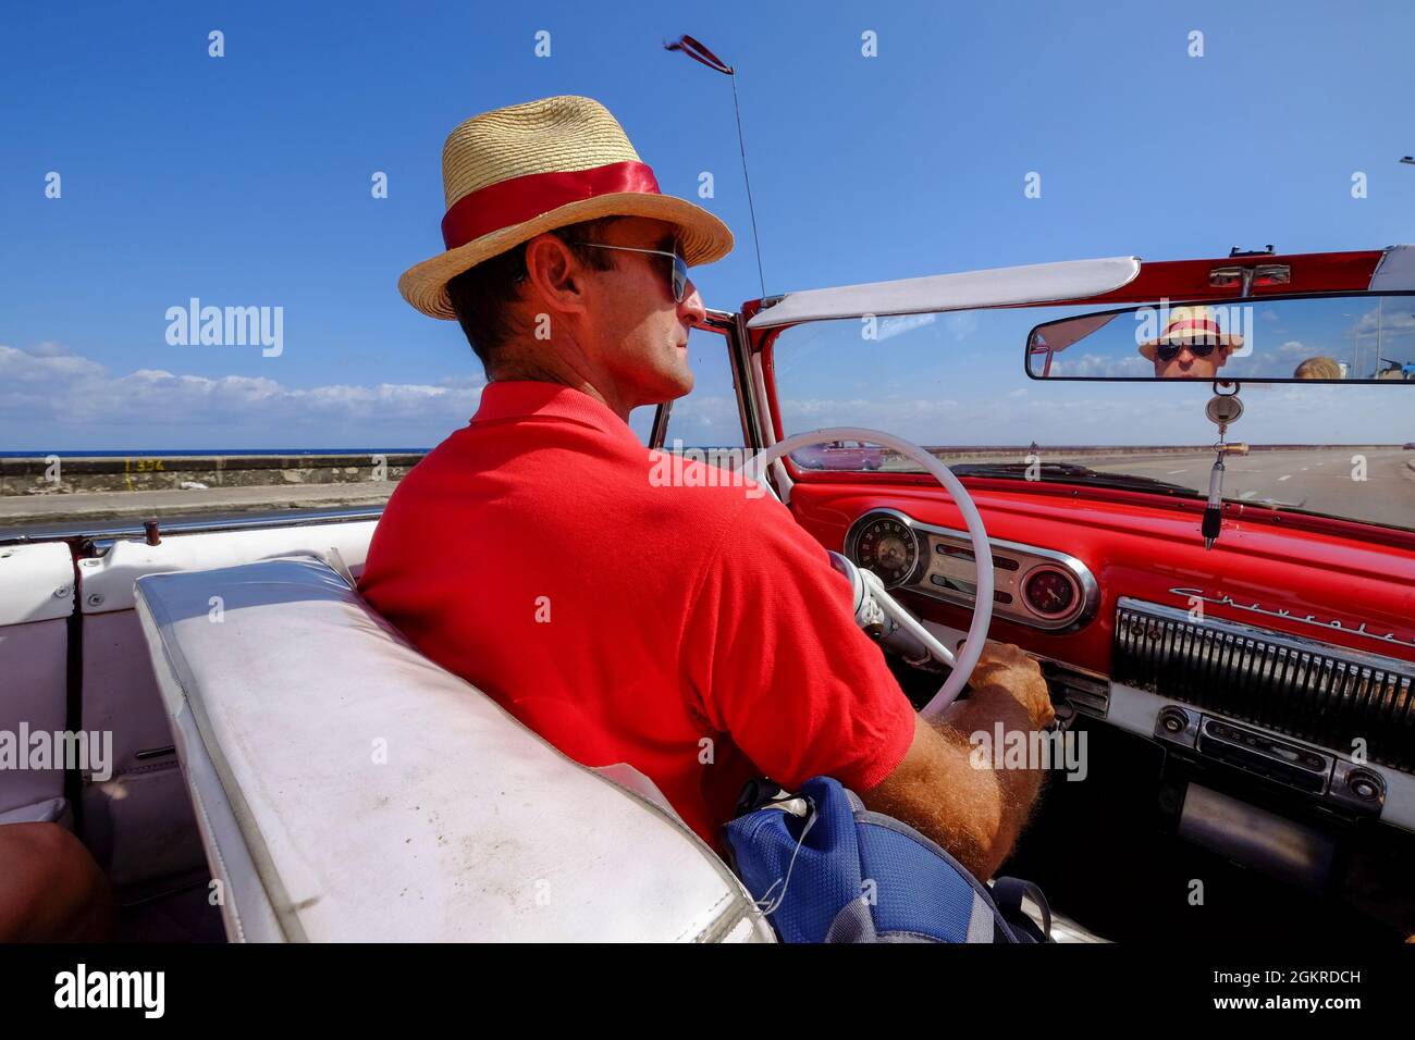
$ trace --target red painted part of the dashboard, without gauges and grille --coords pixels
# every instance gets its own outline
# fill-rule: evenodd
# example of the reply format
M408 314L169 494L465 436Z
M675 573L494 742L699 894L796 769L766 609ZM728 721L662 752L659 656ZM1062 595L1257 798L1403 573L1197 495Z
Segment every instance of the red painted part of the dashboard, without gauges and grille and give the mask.
M1119 597L1179 610L1199 597L1215 620L1415 662L1415 533L1231 504L1221 538L1206 550L1201 501L1017 484L968 481L988 535L1075 556L1094 573L1101 599L1094 620L1077 631L995 618L995 640L1109 675ZM965 526L931 481L832 474L791 490L797 521L828 549L842 550L850 524L880 508ZM903 590L900 599L920 617L968 627L965 608Z

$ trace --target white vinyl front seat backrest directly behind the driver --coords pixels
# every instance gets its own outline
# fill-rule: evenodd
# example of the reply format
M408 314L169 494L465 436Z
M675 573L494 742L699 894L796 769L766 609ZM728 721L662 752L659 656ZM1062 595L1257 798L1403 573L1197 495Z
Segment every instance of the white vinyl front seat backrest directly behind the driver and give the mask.
M726 865L413 649L323 560L137 580L226 934L771 941Z

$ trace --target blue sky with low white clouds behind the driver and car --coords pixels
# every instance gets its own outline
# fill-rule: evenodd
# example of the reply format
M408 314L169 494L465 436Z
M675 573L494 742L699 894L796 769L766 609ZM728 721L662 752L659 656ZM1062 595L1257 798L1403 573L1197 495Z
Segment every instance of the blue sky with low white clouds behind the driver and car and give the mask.
M770 293L1088 256L1415 241L1415 167L1397 163L1415 153L1412 10L150 3L134 17L108 3L11 6L0 16L0 451L441 440L475 409L480 365L454 324L402 301L396 280L441 248L447 130L532 98L603 100L668 192L692 197L712 171L703 204L739 248L695 279L710 306L757 296L730 83L662 51L682 33L740 71ZM224 58L208 57L214 28ZM539 30L549 58L535 57ZM876 58L860 54L866 30ZM1201 58L1187 52L1194 30ZM61 198L45 198L50 171ZM374 171L388 174L386 200L371 197ZM1029 171L1040 198L1023 194ZM1354 171L1367 198L1351 198ZM164 313L191 297L283 307L283 352L168 344ZM940 357L966 378L927 402L880 389L910 382L904 355L832 352L812 375L814 410L798 413L935 443L1026 443L1074 433L1073 416L1099 405L1115 415L1097 439L1107 427L1119 439L1114 419L1128 415L1146 440L1210 439L1200 388L1029 383L1024 333ZM713 347L695 334L702 376L676 430L689 443L722 440L729 395ZM1269 391L1244 434L1412 439L1412 409L1390 406L1397 392ZM1336 408L1337 395L1371 393L1387 403ZM1313 415L1330 423L1313 430Z

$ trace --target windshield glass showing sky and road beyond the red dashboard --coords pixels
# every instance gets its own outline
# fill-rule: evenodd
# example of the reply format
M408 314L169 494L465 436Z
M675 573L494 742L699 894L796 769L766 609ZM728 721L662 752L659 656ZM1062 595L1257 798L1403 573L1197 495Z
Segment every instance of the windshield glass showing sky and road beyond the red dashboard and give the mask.
M1207 495L1218 427L1208 382L1036 382L1033 325L1094 308L1029 307L814 321L773 342L787 434L867 426L928 447L962 475ZM1415 529L1409 385L1247 383L1224 497ZM917 471L877 446L795 453L804 470Z

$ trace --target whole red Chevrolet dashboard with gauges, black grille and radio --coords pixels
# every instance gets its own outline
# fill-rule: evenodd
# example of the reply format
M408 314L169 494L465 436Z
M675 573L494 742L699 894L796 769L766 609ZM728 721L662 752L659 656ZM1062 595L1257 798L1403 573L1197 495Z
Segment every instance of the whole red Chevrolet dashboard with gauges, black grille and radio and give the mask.
M1043 661L1053 699L1176 760L1320 812L1415 832L1415 553L1227 524L1132 498L976 490L992 638ZM940 637L976 596L972 542L937 492L797 484L792 511Z

